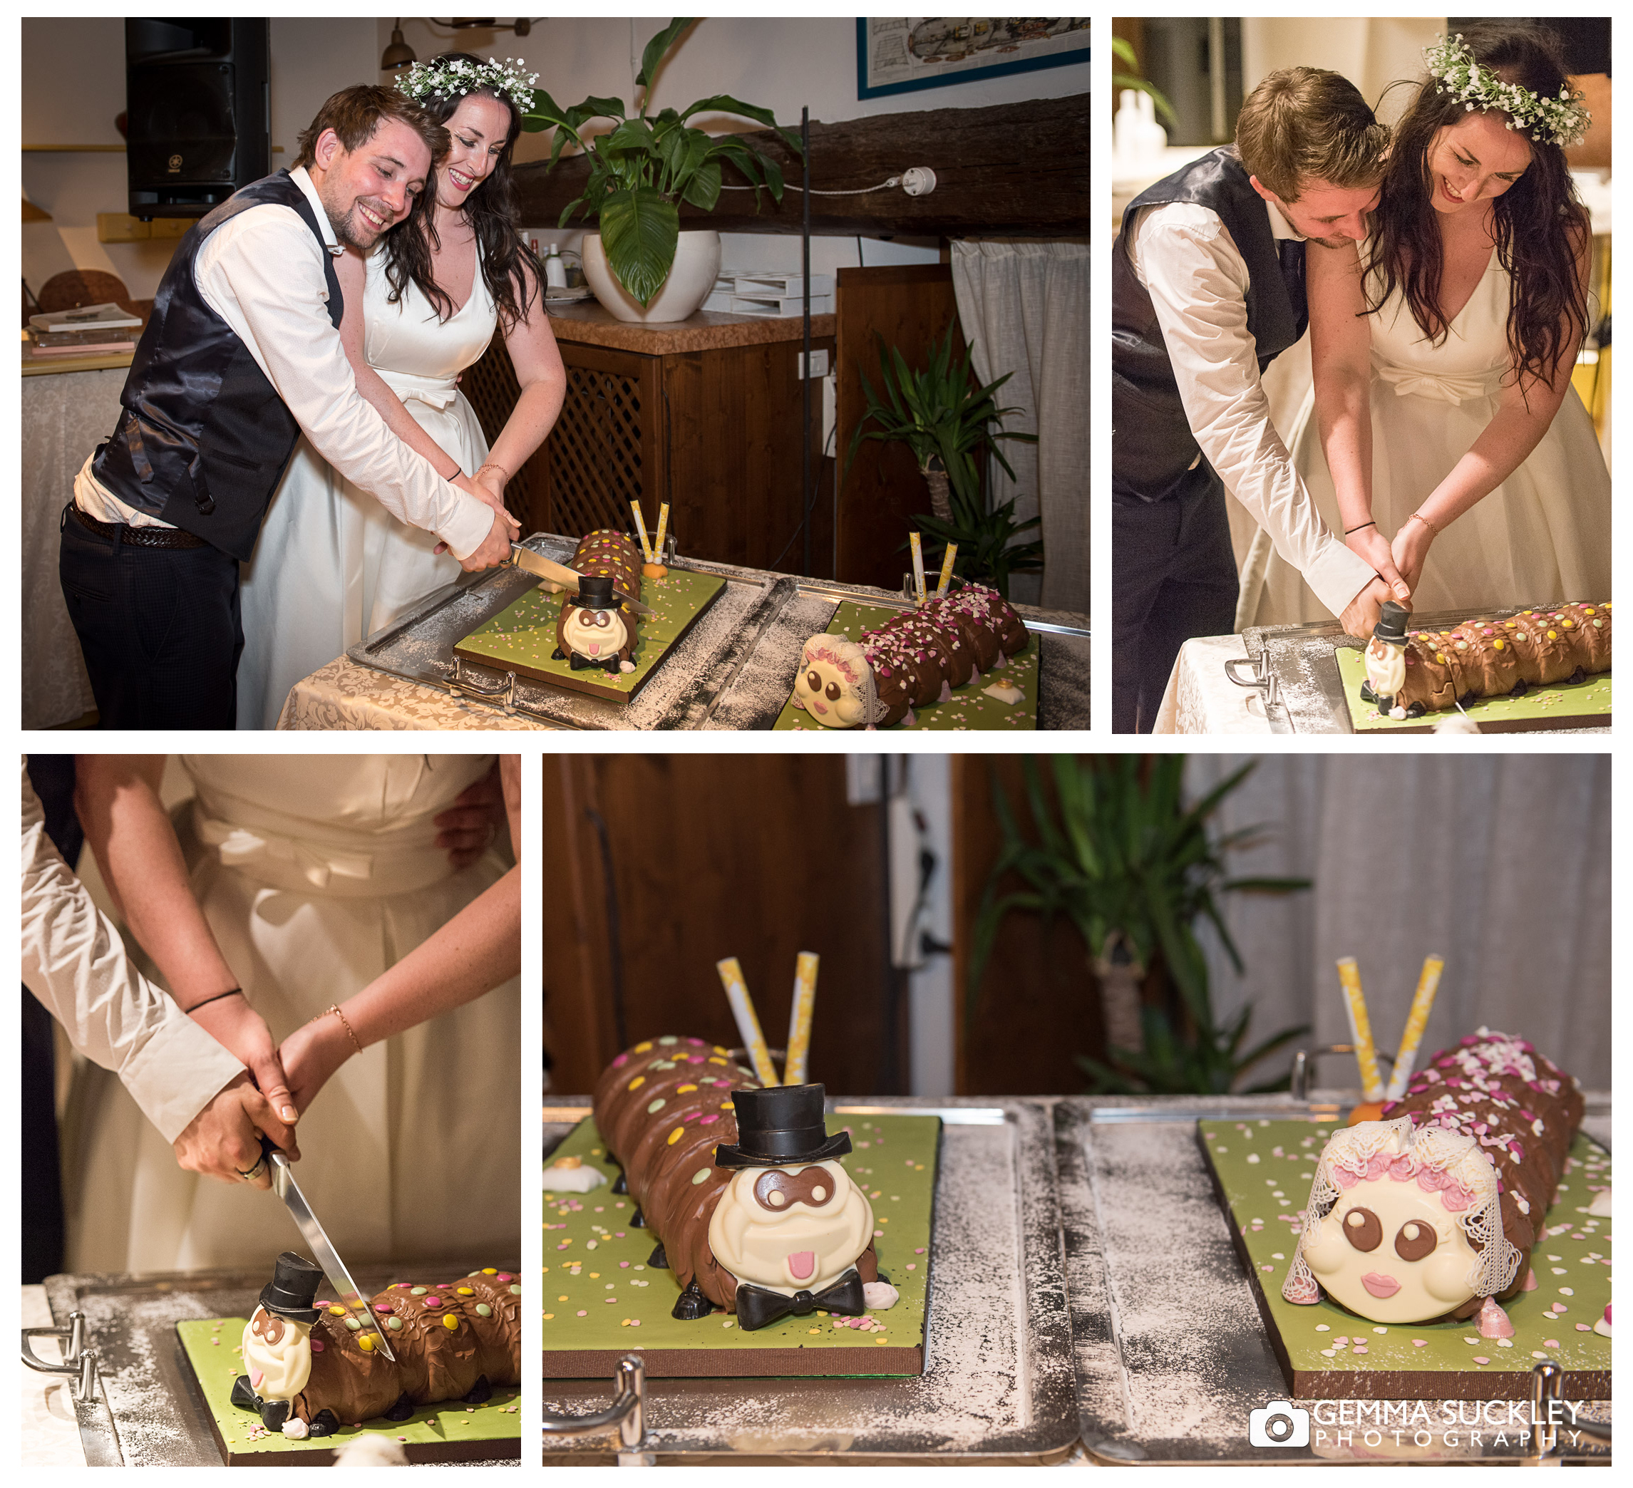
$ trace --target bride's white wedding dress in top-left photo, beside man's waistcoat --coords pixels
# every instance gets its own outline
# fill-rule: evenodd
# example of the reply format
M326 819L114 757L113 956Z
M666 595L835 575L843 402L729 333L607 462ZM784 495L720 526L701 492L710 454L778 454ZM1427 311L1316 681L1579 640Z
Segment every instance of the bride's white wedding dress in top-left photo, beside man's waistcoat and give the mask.
M363 292L364 356L415 421L474 475L488 441L454 379L493 340L495 307L480 266L456 315L410 281L387 301L385 255L371 253ZM243 565L238 727L276 728L289 689L348 647L459 578L438 537L392 516L338 475L302 436L273 495L255 557Z

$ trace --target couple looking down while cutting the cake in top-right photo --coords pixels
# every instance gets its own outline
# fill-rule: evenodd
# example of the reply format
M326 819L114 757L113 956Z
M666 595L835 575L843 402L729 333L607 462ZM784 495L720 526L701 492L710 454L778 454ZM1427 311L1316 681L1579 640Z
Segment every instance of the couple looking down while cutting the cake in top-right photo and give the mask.
M1424 52L1380 124L1334 72L1274 72L1236 144L1143 191L1112 253L1114 727L1181 645L1337 617L1610 595L1610 475L1571 389L1589 116L1545 28ZM1310 330L1284 441L1261 374ZM1225 493L1259 523L1238 573Z

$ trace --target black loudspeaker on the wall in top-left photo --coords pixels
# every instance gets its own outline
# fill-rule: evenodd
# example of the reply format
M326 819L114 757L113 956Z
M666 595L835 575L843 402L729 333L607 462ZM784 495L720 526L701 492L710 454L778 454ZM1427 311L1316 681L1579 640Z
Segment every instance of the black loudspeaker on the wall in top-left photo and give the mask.
M271 175L271 21L124 23L131 216L202 217Z

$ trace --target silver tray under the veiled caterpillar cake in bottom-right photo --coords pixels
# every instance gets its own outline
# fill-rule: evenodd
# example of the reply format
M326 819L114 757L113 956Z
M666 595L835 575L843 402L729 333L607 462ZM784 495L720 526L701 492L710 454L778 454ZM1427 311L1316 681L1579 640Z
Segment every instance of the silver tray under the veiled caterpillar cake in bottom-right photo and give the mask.
M1248 1441L1249 1411L1285 1400L1287 1385L1195 1124L1336 1117L1359 1099L1359 1091L1316 1091L1297 1104L1288 1096L1181 1096L1055 1106L1078 1411L1091 1457L1176 1465L1331 1460L1308 1447ZM1610 1098L1591 1093L1587 1101L1582 1130L1609 1148ZM1609 1419L1609 1401L1602 1414ZM1609 1446L1586 1436L1582 1444L1566 1460L1609 1460ZM1511 1444L1417 1460L1527 1459Z

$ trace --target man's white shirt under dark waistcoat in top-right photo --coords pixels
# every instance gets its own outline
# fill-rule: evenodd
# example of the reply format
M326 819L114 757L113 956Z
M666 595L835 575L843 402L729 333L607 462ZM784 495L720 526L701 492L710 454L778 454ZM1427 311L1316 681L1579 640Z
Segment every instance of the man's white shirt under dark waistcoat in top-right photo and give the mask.
M1272 203L1264 209L1279 240L1298 240ZM1241 250L1218 212L1194 203L1145 207L1125 235L1202 454L1315 596L1342 614L1375 573L1328 529L1270 421L1257 343L1248 330Z

